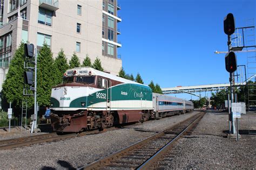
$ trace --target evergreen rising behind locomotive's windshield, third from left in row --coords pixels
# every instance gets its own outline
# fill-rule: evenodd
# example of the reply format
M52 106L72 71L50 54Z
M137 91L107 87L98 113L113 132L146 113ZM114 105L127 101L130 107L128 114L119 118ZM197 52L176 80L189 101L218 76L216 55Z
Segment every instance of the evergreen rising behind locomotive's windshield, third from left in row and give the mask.
M66 55L64 54L63 49L60 49L57 58L54 61L54 68L56 69L56 78L55 85L62 83L63 73L69 68L68 61L66 59Z

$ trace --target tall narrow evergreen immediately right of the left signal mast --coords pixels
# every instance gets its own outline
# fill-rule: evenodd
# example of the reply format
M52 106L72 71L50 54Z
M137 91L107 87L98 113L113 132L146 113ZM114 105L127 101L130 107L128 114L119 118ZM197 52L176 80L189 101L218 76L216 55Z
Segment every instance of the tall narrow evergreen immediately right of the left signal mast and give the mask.
M37 94L39 105L50 105L51 88L54 86L56 74L53 68L51 49L46 43L39 51L37 59Z

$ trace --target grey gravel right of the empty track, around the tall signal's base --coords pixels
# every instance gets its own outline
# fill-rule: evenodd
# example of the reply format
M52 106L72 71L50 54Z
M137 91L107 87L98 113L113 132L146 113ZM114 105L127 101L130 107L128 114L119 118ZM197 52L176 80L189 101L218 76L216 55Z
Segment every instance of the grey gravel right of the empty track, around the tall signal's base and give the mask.
M158 164L166 169L255 169L256 136L246 134L253 126L255 131L255 123L255 113L242 115L241 138L236 141L223 137L228 131L228 115L208 112L192 135L181 138Z

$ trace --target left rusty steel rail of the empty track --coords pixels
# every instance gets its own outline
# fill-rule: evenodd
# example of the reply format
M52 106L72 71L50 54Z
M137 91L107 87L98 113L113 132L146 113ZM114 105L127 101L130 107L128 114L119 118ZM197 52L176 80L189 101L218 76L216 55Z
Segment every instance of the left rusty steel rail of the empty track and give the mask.
M197 115L194 115L194 116L191 116L191 117L185 119L184 121L181 121L181 122L178 122L178 123L174 123L172 126L169 126L165 130L160 131L160 132L158 132L156 134L152 134L150 137L147 137L145 139L139 140L139 141L137 141L136 143L134 143L132 145L126 146L126 147L122 148L121 150L119 150L117 152L111 153L111 154L107 155L106 157L104 157L102 159L98 159L96 161L93 161L93 162L91 162L88 165L85 165L85 166L82 166L82 167L78 167L77 169L98 169L99 167L102 167L106 162L110 162L110 160L114 160L116 158L121 157L120 155L122 155L122 154L124 154L126 152L129 152L130 150L132 150L136 146L142 145L142 144L146 143L147 141L150 141L153 138L157 138L159 136L162 136L165 133L165 131L167 131L169 129L173 129L173 128L177 127L179 124L185 123L186 121L189 121L192 117L196 117L198 115L202 115L201 112L199 114L197 114ZM200 117L200 116L198 116L198 117Z

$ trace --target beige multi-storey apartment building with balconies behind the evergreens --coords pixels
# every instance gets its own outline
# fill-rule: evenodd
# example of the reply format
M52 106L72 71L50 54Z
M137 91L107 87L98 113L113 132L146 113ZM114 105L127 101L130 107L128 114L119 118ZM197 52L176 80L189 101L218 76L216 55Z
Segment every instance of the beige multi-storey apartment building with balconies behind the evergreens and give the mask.
M117 49L120 6L117 0L0 0L0 90L10 60L19 44L37 49L46 42L56 57L60 48L80 63L86 54L98 57L106 72L117 75L122 67Z

